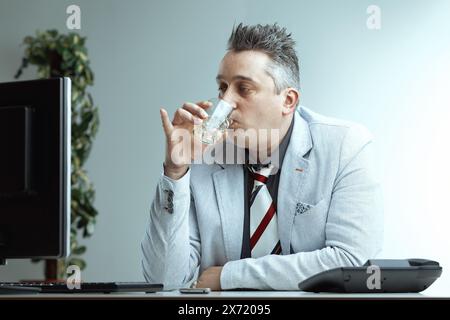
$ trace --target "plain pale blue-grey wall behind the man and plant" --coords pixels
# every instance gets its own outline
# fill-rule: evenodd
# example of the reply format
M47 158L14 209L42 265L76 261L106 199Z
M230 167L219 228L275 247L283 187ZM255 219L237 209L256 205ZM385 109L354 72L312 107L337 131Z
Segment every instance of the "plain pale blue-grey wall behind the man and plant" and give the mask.
M386 258L444 266L427 292L450 296L450 2L0 0L0 81L11 81L21 40L66 32L78 4L95 72L100 131L87 168L100 211L86 240L88 281L142 280L139 243L163 159L158 109L215 94L235 22L287 27L301 60L302 104L360 122L376 138L385 198ZM381 8L381 30L366 8ZM32 79L28 70L23 79ZM42 265L10 261L0 281L42 277Z

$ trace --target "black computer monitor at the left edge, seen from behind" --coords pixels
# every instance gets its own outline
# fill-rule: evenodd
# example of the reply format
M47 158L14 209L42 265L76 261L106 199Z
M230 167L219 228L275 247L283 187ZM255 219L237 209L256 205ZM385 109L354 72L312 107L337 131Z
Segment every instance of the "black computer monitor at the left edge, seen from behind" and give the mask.
M0 83L0 262L70 250L69 78Z

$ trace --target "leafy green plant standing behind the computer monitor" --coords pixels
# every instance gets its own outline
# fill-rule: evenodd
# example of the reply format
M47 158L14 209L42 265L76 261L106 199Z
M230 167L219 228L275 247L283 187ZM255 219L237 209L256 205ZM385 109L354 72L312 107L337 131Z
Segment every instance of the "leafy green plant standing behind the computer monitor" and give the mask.
M35 65L40 78L69 77L72 80L71 256L46 260L47 280L64 279L69 265L77 265L81 270L86 267L81 257L86 247L78 240L80 235L86 238L93 234L98 214L93 205L95 190L83 169L99 125L98 108L86 91L94 83L94 74L85 42L86 38L77 33L59 34L57 30L27 36L23 40L25 56L15 75L19 78L25 68Z

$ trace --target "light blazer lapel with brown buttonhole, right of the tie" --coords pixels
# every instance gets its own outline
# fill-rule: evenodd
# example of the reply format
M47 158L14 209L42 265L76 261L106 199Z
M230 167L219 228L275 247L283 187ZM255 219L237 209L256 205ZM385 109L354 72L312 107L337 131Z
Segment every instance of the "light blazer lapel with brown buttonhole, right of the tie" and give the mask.
M278 187L278 233L283 254L290 254L292 225L297 203L303 198L302 186L310 178L309 161L304 158L312 148L308 123L295 113L294 128L281 167Z

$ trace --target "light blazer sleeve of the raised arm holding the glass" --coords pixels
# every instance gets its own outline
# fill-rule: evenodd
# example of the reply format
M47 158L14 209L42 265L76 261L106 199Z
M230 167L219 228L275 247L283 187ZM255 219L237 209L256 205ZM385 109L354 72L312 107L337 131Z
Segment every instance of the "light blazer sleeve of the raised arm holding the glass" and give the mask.
M165 290L198 277L200 236L190 192L190 169L179 180L161 176L141 242L145 280Z

